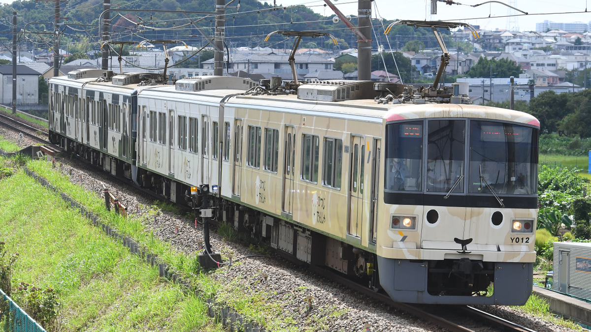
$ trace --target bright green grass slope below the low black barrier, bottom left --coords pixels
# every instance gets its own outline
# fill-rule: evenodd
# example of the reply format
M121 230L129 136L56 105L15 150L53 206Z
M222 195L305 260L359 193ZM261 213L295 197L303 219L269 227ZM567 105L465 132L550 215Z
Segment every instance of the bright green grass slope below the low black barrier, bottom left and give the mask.
M61 331L220 331L202 299L159 278L22 171L0 181L0 239L20 254L13 285L56 289Z

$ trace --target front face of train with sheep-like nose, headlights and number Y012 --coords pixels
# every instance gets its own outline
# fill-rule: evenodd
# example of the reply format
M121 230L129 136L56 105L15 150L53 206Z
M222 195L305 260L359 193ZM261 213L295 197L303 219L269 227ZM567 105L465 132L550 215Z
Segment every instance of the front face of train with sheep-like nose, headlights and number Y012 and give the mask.
M535 261L539 122L413 105L384 116L379 281L392 299L522 305Z

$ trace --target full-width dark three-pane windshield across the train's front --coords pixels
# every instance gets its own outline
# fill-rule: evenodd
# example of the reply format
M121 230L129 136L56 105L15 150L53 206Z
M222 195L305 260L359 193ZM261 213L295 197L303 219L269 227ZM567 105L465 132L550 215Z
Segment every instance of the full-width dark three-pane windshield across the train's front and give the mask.
M430 119L389 123L385 136L387 192L537 194L537 129Z

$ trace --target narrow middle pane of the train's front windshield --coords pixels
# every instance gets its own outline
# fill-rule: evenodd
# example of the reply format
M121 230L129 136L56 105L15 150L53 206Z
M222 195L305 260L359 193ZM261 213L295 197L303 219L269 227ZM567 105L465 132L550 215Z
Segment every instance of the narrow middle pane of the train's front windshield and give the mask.
M430 120L427 123L426 190L430 193L463 193L466 121Z

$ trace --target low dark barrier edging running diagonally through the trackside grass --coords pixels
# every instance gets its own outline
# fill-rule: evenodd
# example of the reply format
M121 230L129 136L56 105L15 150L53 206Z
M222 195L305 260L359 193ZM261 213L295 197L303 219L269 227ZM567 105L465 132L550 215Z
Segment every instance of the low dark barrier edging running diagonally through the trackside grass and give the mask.
M135 240L131 237L120 235L116 231L116 229L100 221L99 216L92 213L92 211L87 210L85 206L78 203L76 200L68 196L66 193L60 193L57 190L57 188L51 185L51 183L46 178L37 175L34 171L29 170L27 167L24 167L24 170L25 174L27 174L31 178L34 178L38 183L46 187L51 192L59 193L60 197L64 201L70 203L71 209L78 210L80 214L86 217L86 219L88 219L93 226L100 228L106 235L112 237L113 240L129 248L129 251L131 253L140 256L142 259L145 259L145 262L150 264L150 266L158 266L158 275L161 278L167 279L168 281L173 282L175 284L179 284L183 289L183 292L185 292L185 294L189 292L194 292L194 295L196 297L204 299L207 303L207 314L209 315L209 317L216 318L216 321L221 322L224 328L232 332L265 331L264 328L256 324L245 322L244 318L240 314L236 313L230 307L227 307L225 304L216 302L212 298L206 298L203 291L201 291L200 289L195 289L190 284L190 282L184 281L180 275L178 275L174 271L171 271L170 266L168 266L167 263L163 262L162 259L158 257L158 255L156 255L155 253L150 253L147 248L145 248L142 245L139 245L139 243L135 242Z

